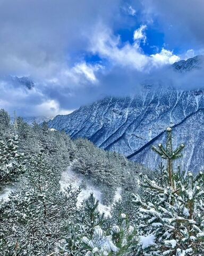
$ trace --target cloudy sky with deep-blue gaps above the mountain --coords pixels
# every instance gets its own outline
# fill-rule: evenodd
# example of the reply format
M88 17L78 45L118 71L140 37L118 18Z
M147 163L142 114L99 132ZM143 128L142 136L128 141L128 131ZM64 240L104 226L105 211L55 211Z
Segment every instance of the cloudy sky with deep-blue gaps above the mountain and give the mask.
M141 79L203 54L203 14L203 0L0 0L0 108L55 116L135 94Z

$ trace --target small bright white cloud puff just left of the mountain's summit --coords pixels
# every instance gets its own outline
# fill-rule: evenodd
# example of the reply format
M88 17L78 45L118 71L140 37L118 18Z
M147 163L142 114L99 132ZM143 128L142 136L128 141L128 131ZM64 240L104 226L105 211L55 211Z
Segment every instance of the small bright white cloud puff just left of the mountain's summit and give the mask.
M173 64L174 62L180 60L180 57L173 54L173 51L168 51L164 48L159 53L151 54L150 57L155 66Z

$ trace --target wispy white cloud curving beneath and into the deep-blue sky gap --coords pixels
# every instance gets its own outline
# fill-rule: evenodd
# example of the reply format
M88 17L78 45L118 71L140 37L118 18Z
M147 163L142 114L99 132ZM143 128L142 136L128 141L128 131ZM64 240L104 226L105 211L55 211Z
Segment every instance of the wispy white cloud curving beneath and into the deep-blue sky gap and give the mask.
M107 28L95 30L91 37L90 51L106 58L113 66L129 67L139 71L149 71L151 68L171 65L180 60L180 57L166 49L150 56L142 52L141 40L146 40L143 31L147 28L142 25L134 31L135 42L122 44L119 36L114 36Z

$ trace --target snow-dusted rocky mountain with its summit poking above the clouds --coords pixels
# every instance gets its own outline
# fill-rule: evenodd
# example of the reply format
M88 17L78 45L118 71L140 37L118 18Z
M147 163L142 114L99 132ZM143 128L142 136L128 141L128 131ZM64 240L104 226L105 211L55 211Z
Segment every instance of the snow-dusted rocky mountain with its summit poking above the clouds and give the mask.
M186 62L179 61L174 68L180 65L185 69ZM189 65L186 67L190 70ZM133 98L105 98L48 122L49 127L72 138L86 137L98 147L122 153L150 168L160 161L151 145L164 143L166 127L174 127L174 145L186 144L183 163L191 171L204 167L203 124L204 90L151 88Z

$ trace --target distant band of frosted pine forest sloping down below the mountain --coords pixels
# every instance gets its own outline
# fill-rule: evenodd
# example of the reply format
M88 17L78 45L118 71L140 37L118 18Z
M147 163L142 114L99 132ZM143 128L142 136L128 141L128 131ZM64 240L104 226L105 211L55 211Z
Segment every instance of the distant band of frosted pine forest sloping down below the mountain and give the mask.
M117 187L125 186L125 181L140 171L147 171L120 154L97 148L87 139L71 140L64 132L49 129L45 122L38 125L33 121L30 126L18 117L16 123L18 128L14 130L6 111L0 110L1 138L18 135L18 151L24 154L24 159L41 153L59 175L72 164L73 171L84 175L83 185L86 186L86 180L91 181L108 195L104 199L106 204L112 202Z

